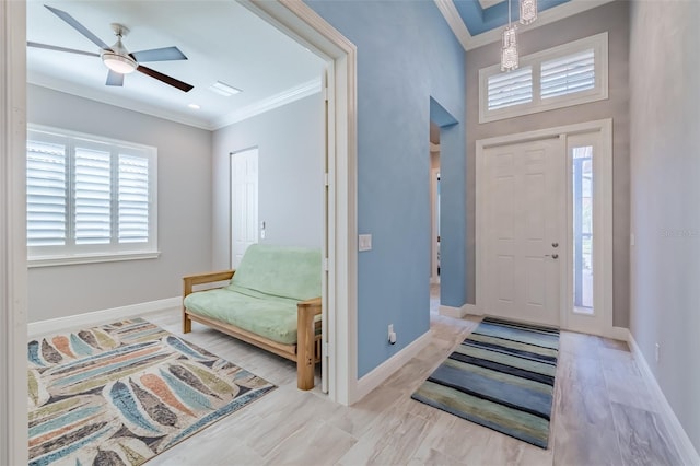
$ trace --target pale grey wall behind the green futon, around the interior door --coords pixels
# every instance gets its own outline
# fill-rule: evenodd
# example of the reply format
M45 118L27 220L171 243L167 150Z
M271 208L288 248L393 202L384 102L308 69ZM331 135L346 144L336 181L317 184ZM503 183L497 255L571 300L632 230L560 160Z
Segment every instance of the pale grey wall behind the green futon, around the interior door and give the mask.
M231 152L258 148L260 243L320 247L323 240L324 113L314 94L213 133L215 269L231 267Z

